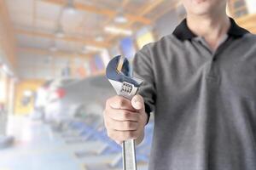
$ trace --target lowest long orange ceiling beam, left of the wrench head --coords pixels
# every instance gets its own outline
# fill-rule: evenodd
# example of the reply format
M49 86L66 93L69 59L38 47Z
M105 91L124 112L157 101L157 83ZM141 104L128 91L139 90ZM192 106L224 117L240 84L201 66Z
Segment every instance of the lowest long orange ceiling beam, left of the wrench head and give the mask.
M72 52L66 52L66 51L55 51L52 52L48 49L42 49L42 48L18 48L18 51L23 53L23 54L38 54L38 55L52 55L53 57L68 57L68 58L74 58L74 57L79 57L79 58L90 58L96 52L91 52L90 54L75 54Z

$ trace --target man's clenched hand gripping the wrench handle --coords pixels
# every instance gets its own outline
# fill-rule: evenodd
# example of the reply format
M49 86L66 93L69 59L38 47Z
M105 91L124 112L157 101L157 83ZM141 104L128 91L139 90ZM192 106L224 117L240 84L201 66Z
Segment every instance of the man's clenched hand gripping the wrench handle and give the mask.
M143 141L148 115L142 96L136 95L131 101L114 96L107 100L103 115L108 137L116 143L121 144L127 139L136 139L136 144Z

